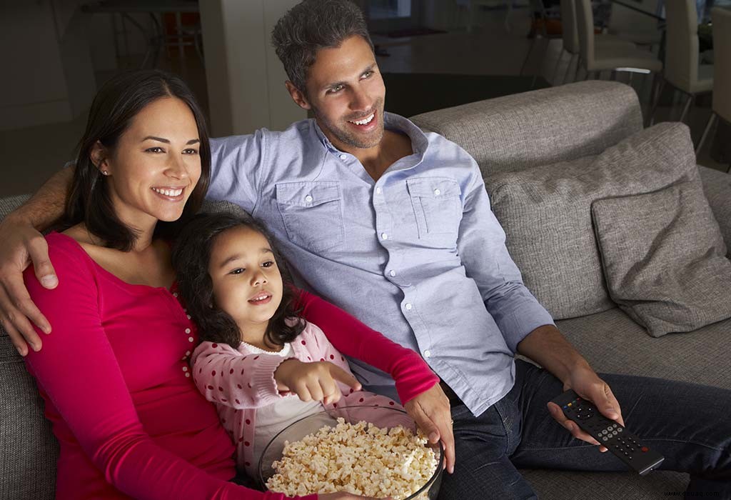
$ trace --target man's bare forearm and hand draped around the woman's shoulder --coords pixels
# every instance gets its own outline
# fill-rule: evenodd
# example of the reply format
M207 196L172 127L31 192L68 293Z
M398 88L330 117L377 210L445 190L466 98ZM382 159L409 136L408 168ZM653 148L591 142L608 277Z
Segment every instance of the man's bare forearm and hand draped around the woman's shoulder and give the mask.
M50 333L50 323L28 295L23 270L31 263L43 287L56 288L58 278L48 259L48 245L39 232L48 229L64 214L74 167L51 177L28 202L0 221L0 324L10 335L20 355L28 346L37 351L41 339L31 325Z

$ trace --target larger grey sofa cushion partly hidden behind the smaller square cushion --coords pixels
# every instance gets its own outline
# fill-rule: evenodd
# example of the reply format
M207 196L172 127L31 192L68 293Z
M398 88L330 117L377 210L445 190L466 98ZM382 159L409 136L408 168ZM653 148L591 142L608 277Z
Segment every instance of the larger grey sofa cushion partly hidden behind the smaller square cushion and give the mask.
M656 191L697 175L683 124L663 123L598 156L486 179L523 281L556 319L614 307L591 227L591 203Z

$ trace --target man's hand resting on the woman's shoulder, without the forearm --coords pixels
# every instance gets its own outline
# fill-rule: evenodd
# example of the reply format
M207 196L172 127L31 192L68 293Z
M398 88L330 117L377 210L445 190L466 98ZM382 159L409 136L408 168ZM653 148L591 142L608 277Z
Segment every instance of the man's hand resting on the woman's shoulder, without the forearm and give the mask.
M28 354L28 346L41 348L41 339L31 322L45 333L50 323L28 295L23 283L23 270L31 262L38 281L48 289L56 288L58 278L48 259L48 244L43 235L23 219L12 214L0 222L0 324L10 335L20 355Z

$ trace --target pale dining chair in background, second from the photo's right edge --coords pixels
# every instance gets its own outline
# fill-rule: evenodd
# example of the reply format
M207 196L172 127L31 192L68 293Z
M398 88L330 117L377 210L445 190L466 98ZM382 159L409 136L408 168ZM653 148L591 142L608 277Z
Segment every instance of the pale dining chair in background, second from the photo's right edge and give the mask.
M665 0L667 35L665 65L650 113L650 124L664 83L686 94L679 121L683 121L697 94L713 91L713 64L699 63L698 15L695 0Z

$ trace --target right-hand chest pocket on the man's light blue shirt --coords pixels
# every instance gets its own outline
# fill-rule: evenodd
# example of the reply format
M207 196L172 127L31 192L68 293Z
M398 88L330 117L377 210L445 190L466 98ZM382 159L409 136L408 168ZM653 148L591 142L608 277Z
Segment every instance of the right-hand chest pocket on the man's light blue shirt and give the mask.
M420 177L406 179L419 238L431 235L456 235L462 220L459 184L450 178Z

